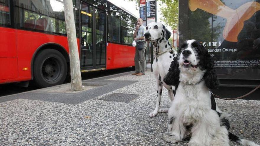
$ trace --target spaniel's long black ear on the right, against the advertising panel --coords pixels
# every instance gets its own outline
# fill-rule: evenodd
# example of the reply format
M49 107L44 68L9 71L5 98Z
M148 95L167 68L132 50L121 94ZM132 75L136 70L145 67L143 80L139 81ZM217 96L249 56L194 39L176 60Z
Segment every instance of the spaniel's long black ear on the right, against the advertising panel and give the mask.
M214 68L214 61L212 60L208 52L205 53L204 59L205 69L207 71L204 74L203 78L205 80L206 86L210 90L217 89L219 87L219 80L217 79L216 70Z

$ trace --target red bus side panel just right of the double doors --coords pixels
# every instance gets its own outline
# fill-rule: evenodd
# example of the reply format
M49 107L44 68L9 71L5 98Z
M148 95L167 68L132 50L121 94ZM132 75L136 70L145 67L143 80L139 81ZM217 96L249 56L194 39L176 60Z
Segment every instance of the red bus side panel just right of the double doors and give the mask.
M134 66L135 47L108 43L106 69Z

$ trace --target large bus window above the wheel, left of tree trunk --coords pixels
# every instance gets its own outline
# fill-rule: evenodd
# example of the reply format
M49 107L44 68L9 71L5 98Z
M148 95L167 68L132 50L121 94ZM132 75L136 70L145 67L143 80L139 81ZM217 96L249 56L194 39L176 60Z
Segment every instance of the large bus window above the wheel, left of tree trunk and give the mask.
M62 1L14 0L15 26L66 34Z

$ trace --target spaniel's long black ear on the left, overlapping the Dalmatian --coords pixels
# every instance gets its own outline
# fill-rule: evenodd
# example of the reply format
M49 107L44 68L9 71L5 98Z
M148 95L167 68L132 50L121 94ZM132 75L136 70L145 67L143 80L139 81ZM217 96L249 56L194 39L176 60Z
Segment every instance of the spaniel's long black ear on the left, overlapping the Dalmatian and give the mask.
M169 71L164 77L163 81L167 85L176 86L177 89L177 86L180 82L179 79L180 79L180 70L179 70L178 57L175 57L174 60L171 62Z

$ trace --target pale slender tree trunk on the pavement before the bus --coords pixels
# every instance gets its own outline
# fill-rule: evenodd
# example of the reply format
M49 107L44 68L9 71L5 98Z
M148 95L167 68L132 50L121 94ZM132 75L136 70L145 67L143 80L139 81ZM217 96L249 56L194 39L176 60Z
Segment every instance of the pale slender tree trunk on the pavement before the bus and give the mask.
M69 43L71 91L82 91L79 51L76 37L72 0L64 0L66 32Z

